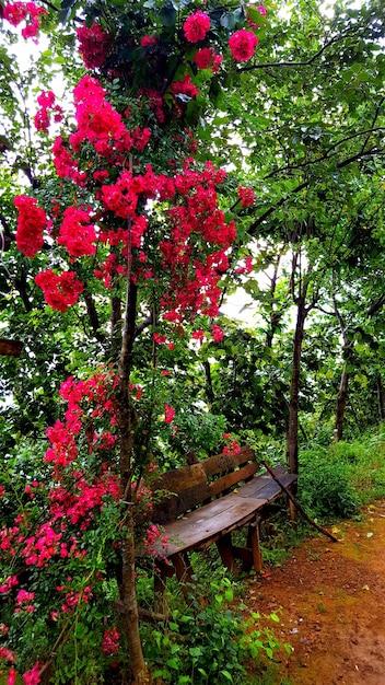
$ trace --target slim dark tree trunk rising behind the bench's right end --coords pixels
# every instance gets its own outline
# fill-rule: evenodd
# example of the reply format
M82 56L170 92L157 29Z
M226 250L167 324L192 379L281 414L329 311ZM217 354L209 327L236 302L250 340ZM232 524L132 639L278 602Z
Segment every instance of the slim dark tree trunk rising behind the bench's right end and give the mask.
M299 409L300 409L300 371L303 334L306 321L306 291L307 285L303 285L303 291L296 300L296 324L293 341L293 363L290 383L289 402L289 430L287 455L290 472L299 473Z

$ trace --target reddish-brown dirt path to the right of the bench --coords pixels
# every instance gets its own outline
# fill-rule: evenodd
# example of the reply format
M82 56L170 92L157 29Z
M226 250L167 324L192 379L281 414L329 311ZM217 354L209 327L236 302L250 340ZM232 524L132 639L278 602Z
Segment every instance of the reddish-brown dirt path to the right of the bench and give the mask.
M341 542L308 539L250 583L245 604L280 609L277 637L293 648L284 683L385 685L385 502L363 515L332 529Z

